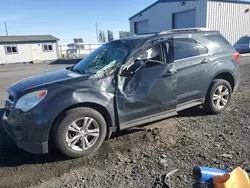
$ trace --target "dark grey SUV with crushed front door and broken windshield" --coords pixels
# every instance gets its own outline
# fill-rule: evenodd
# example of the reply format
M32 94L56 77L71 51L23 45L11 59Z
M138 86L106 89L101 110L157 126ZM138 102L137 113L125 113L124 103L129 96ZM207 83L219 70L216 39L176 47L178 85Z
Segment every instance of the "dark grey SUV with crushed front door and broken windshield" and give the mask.
M217 31L173 30L104 44L78 64L12 85L3 126L32 153L96 151L112 132L203 105L228 106L239 53ZM52 147L54 148L54 147Z

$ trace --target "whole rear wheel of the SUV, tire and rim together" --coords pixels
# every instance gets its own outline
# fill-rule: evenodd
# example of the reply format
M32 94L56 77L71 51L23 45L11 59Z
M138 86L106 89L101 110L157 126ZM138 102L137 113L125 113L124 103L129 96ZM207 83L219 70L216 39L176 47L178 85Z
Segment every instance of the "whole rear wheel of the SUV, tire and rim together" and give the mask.
M232 87L226 80L216 79L210 85L204 108L213 114L219 114L224 111L232 95Z

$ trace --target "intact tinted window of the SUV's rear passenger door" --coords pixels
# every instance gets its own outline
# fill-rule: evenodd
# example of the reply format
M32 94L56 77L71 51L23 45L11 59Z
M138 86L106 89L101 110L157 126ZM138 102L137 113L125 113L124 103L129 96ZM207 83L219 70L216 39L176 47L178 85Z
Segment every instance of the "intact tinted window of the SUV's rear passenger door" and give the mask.
M199 56L207 52L207 48L192 38L174 39L174 51L172 52L174 60Z

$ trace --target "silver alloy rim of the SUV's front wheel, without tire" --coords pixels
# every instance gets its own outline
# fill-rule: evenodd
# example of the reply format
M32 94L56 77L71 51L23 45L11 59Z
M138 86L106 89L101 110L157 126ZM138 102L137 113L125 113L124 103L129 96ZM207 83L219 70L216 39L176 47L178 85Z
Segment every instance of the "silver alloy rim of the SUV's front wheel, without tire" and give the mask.
M84 151L91 148L99 136L99 124L91 117L82 117L69 125L66 143L74 151Z

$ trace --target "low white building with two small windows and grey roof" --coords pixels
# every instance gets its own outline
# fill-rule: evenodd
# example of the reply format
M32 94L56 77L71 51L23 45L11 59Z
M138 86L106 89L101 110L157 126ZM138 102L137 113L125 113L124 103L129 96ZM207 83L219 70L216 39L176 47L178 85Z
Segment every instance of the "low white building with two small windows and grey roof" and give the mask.
M56 60L58 40L52 35L0 36L0 64Z

